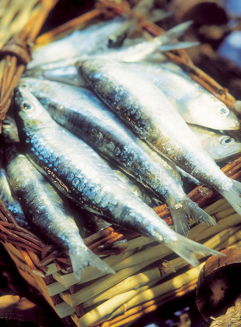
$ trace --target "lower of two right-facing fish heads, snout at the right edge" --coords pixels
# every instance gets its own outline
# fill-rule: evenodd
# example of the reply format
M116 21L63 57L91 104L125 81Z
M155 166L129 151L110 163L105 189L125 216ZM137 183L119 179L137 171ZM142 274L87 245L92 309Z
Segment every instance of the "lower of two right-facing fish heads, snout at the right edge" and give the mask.
M228 135L220 135L210 140L212 144L212 158L216 162L227 162L240 155L241 142Z

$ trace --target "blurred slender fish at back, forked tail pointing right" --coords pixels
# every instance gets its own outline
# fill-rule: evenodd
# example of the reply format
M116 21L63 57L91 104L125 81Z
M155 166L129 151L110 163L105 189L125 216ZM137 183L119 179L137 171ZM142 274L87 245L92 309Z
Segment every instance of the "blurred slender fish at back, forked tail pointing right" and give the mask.
M40 76L42 74L41 72L43 72L44 70L63 68L66 66L74 65L77 60L104 58L108 60L131 62L148 58L148 56L152 56L154 52L170 51L196 46L199 44L198 42L173 42L173 39L180 37L187 30L191 23L192 22L179 24L166 31L163 35L155 37L150 41L143 41L141 43L134 44L128 47L122 47L120 49L109 49L108 51L93 52L91 54L85 51L84 53L78 56L68 56L64 60L58 60L56 62L42 64L37 67L30 66L30 63L32 62L30 61L27 66L27 69L29 69L29 71L27 70L24 76Z

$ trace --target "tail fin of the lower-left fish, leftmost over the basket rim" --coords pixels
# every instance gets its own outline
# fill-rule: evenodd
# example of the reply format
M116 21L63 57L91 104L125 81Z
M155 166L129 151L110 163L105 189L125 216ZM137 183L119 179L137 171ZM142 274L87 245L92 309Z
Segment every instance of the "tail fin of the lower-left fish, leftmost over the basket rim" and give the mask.
M76 246L74 250L69 250L69 257L74 275L79 280L81 278L82 269L87 266L95 267L100 271L104 271L106 274L115 274L115 271L110 266L83 245L79 247Z

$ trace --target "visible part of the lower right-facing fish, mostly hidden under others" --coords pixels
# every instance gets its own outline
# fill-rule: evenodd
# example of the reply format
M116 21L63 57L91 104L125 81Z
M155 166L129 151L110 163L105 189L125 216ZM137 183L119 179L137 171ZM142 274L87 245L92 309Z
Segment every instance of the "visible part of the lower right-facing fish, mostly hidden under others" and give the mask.
M204 149L216 162L228 162L240 156L241 142L229 135L221 135L216 131L188 124Z

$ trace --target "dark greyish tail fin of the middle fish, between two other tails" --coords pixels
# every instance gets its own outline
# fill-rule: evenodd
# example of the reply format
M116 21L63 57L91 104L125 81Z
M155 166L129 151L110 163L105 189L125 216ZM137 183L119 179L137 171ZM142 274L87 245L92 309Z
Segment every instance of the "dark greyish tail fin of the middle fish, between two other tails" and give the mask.
M213 217L199 208L197 203L193 202L187 196L178 199L178 202L171 205L170 211L173 217L175 231L182 235L187 235L190 229L189 218L192 218L196 222L205 221L208 225L216 224Z

